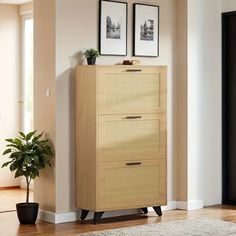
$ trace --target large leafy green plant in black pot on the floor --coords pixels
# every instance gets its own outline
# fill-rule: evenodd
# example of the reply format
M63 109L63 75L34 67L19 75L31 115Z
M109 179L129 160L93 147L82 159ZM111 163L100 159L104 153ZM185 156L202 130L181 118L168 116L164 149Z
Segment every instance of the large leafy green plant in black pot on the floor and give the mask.
M39 204L29 202L29 186L32 179L39 177L39 171L46 166L51 167L53 151L49 140L40 140L43 133L37 135L37 130L24 134L19 132L19 137L6 139L8 144L3 155L10 154L10 161L5 162L3 167L9 166L10 171L15 171L15 178L24 176L27 183L26 202L17 203L17 215L21 224L34 224Z

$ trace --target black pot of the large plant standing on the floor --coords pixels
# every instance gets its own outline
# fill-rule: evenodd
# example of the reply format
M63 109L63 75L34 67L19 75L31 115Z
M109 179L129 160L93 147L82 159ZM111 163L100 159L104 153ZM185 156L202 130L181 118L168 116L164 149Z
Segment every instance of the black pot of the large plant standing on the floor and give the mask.
M38 216L39 204L35 202L17 203L17 216L21 224L35 224Z

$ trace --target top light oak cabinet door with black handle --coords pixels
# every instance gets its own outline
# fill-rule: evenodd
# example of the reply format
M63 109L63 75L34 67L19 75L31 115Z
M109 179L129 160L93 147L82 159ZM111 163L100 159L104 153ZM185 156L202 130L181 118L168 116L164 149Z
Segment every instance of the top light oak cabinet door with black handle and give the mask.
M152 69L99 71L99 114L165 112L165 76Z

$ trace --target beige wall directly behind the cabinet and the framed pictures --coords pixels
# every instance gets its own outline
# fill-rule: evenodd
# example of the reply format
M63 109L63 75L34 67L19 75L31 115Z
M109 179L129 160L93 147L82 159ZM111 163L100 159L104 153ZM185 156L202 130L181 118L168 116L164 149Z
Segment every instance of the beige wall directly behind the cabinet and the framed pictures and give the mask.
M132 3L128 11L128 56L132 49ZM81 63L80 50L98 47L98 0L56 1L56 196L57 212L74 209L75 199L75 90L74 66ZM160 56L139 58L142 64L168 66L168 200L175 200L176 184L173 150L175 114L173 111L173 81L175 74L176 1L147 0L145 3L160 5ZM121 63L124 57L103 56L98 64Z

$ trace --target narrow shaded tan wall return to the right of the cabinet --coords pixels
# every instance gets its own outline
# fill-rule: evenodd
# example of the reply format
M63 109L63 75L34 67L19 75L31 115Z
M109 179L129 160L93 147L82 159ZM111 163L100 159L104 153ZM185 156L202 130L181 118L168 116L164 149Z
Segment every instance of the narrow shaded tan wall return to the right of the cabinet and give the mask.
M173 97L177 105L173 109L177 113L178 128L174 134L177 140L175 152L178 153L178 161L174 163L177 169L178 182L175 186L177 200L187 201L187 164L188 164L188 142L187 142L187 0L178 0L176 19L176 80L175 93Z

